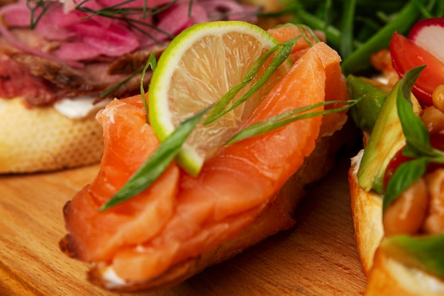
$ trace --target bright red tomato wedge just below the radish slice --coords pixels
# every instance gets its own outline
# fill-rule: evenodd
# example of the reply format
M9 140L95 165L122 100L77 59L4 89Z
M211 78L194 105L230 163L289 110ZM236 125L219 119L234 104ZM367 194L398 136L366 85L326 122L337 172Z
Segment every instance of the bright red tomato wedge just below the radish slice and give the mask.
M392 55L394 70L399 77L402 77L411 68L426 65L412 92L421 106L431 106L433 104L433 90L438 85L444 84L444 63L421 46L396 32L390 41L390 55Z

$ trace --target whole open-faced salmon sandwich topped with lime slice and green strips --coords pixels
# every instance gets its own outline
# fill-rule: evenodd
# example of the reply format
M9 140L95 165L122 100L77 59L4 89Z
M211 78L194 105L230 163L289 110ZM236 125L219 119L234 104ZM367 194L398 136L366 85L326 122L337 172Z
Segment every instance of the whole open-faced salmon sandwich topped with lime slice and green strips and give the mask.
M309 28L194 25L150 65L146 94L99 111L99 173L64 209L62 251L109 290L177 285L289 229L353 138L340 57Z

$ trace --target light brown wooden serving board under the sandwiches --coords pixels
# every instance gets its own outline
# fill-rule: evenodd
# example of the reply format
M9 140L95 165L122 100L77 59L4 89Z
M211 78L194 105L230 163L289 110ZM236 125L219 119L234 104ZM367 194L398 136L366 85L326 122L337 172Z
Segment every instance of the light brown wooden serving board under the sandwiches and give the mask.
M294 229L283 231L170 290L128 295L362 295L350 216L345 158L309 191ZM98 166L0 177L0 295L124 295L85 279L88 266L67 258L62 207Z

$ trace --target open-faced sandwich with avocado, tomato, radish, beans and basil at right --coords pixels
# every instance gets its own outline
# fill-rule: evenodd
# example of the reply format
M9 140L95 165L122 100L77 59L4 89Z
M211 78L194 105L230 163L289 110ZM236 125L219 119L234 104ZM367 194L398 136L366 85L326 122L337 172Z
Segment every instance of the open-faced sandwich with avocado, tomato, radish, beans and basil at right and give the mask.
M349 182L365 295L444 295L443 45L444 18L422 19L374 56L388 79L348 77L364 135Z

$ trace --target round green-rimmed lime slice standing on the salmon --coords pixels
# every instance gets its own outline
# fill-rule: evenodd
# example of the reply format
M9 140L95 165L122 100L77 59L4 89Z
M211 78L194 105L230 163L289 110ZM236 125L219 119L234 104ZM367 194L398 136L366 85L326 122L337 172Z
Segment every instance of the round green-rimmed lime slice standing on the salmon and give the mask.
M270 33L243 21L200 23L177 35L157 62L149 89L150 124L160 141L240 84L252 64L276 45ZM271 61L272 57L233 101L250 89ZM179 165L198 175L204 161L233 136L289 67L291 62L284 62L250 99L228 114L211 124L199 124L177 156Z

